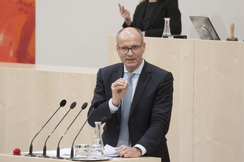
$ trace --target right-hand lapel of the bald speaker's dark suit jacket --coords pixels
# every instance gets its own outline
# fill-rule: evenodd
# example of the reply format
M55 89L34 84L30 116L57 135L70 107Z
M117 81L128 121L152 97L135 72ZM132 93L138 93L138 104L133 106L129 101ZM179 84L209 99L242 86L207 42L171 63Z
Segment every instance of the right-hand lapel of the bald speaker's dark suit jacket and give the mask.
M135 110L136 105L137 105L138 101L140 100L141 96L145 93L144 89L147 86L150 78L151 78L151 68L150 68L149 64L145 61L145 65L144 65L141 75L139 77L137 87L135 90L135 94L133 97L133 101L131 104L130 116L133 113L133 111Z

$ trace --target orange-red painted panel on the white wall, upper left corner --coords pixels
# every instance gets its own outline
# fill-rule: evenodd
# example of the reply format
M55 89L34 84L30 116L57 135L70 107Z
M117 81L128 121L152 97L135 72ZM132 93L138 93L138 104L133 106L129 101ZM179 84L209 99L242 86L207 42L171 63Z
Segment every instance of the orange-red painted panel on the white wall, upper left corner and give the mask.
M35 63L35 0L0 0L0 62Z

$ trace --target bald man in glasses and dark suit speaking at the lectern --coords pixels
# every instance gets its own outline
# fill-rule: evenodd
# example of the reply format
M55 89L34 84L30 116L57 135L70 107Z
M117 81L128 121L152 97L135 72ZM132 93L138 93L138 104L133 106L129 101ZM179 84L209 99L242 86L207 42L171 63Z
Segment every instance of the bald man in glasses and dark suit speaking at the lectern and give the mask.
M100 105L88 122L93 127L95 121L105 123L103 143L118 147L121 157L155 156L169 162L165 135L171 118L173 76L143 59L146 43L139 29L124 28L116 39L122 63L99 69L92 104ZM132 83L128 85L126 79L131 73ZM133 97L131 105L125 107L128 87L132 87ZM124 140L122 134L127 131L128 140Z

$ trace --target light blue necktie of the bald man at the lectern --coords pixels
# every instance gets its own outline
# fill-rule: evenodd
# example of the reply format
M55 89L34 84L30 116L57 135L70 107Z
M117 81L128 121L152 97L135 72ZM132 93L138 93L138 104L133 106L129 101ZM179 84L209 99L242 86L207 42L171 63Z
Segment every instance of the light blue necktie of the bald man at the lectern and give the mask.
M132 102L132 93L133 93L133 86L132 86L132 77L135 74L127 73L128 76L128 83L129 86L127 91L123 97L122 107L121 107L121 122L120 122L120 133L117 146L121 145L129 145L129 128L128 128L128 120L130 115L130 107Z

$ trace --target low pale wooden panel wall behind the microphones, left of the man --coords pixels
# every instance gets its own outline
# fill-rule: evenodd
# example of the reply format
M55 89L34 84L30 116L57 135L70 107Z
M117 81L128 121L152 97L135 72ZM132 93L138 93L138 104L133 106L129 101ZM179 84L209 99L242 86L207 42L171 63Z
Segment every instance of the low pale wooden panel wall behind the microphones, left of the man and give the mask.
M48 139L47 149L55 150L58 140L66 131L84 102L88 107L81 112L60 143L60 148L70 148L86 120L91 106L97 69L55 67L0 63L0 153L11 153L14 148L29 151L34 135L58 109L61 108L33 142L33 151L43 150L44 142L54 127L70 109L57 130ZM94 129L88 124L80 133L77 143L92 143Z

